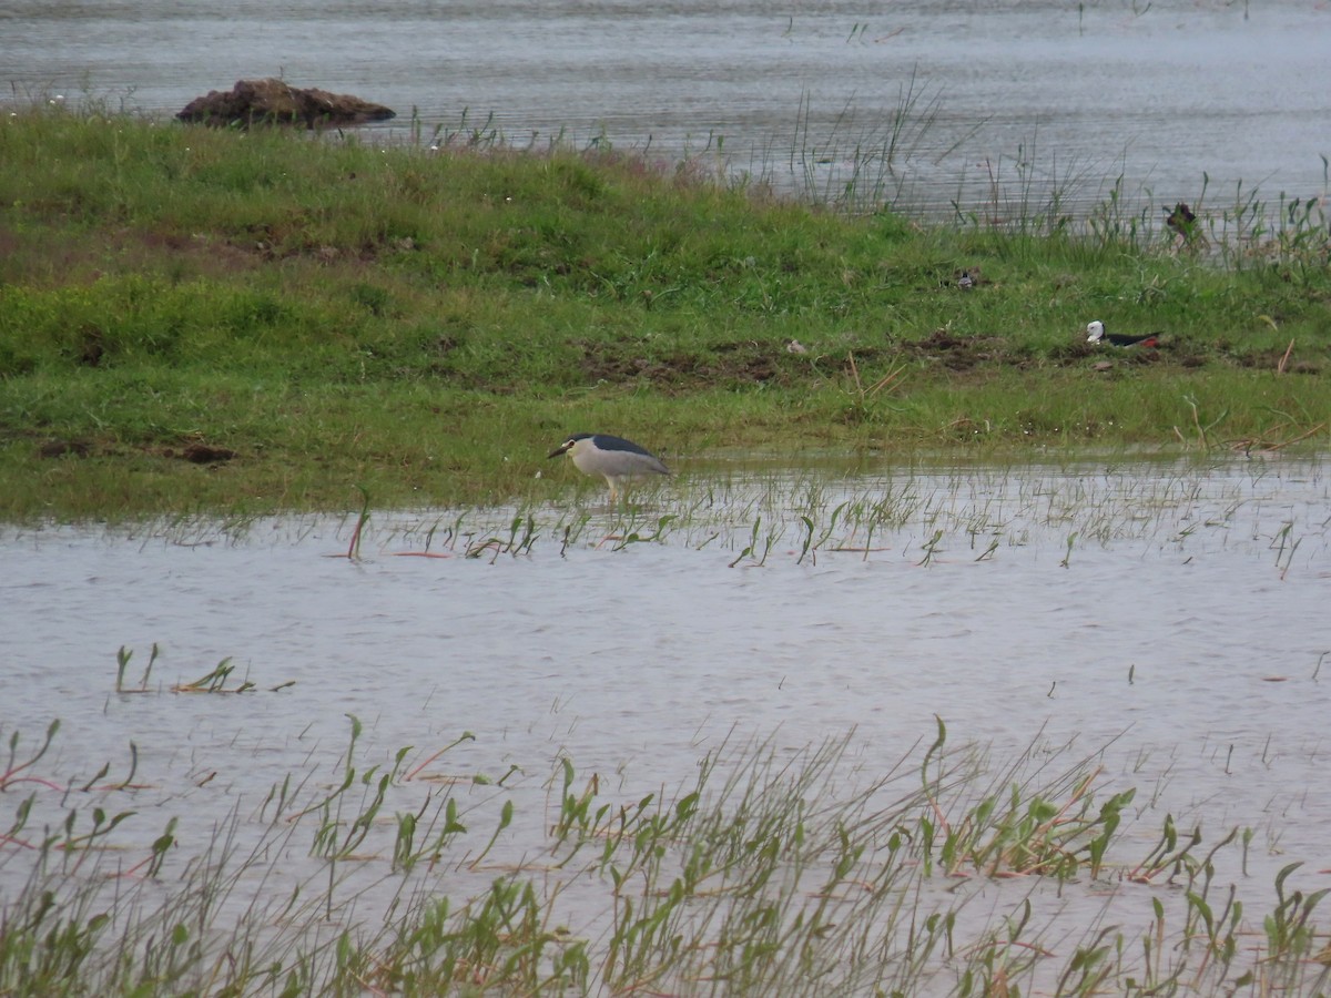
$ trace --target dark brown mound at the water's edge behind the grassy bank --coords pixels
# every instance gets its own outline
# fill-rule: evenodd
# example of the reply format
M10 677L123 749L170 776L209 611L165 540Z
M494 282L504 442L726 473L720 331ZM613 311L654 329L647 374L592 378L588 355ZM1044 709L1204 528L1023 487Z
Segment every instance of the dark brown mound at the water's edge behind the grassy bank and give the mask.
M177 116L204 125L303 125L323 128L387 121L397 112L382 104L327 90L302 89L281 80L238 80L229 92L196 97Z

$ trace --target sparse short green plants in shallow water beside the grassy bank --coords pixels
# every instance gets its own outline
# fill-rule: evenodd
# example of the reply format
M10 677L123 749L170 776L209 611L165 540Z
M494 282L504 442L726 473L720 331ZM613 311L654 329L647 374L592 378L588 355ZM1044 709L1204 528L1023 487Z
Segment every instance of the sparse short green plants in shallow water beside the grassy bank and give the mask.
M1211 476L1211 462L1070 463L1040 474L953 468L950 479L928 466L839 479L831 467L792 474L767 462L748 470L732 462L724 474L677 479L650 503L616 508L572 500L443 516L385 514L375 543L394 555L459 550L491 563L506 552L539 556L555 540L563 558L639 544L724 548L732 552L731 567L771 567L787 555L796 566L855 555L865 562L910 556L925 567L949 550L985 563L1005 548L1042 543L1057 546L1057 563L1069 570L1074 552L1087 546L1158 538L1182 551L1199 531L1225 528L1247 511L1256 516L1254 539L1270 542L1283 578L1306 536L1324 534L1322 524L1291 520L1271 506L1260 478L1222 483Z

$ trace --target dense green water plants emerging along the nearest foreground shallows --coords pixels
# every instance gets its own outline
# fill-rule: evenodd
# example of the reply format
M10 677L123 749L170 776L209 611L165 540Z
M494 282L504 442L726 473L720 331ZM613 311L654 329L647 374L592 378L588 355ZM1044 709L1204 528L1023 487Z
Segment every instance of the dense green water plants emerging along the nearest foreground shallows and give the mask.
M141 691L118 696L129 692ZM1125 836L1151 806L1106 777L1109 747L1081 756L1037 737L996 764L948 744L938 720L897 760L855 736L795 752L723 745L680 786L651 790L622 772L612 789L611 773L579 772L567 753L548 776L531 760L503 774L450 772L470 732L395 750L362 735L350 717L337 760L311 756L306 772L242 796L204 760L181 781L133 744L124 765L93 773L67 758L57 773L47 757L59 723L36 745L9 732L0 872L31 873L4 897L0 991L1315 994L1331 983L1331 937L1314 921L1327 890L1300 889L1298 862L1258 892L1271 898L1262 906L1225 886L1247 868L1248 830L1209 838L1165 814L1157 833ZM144 769L165 782L145 782ZM984 901L994 896L1005 914ZM1078 914L1065 921L1069 909Z

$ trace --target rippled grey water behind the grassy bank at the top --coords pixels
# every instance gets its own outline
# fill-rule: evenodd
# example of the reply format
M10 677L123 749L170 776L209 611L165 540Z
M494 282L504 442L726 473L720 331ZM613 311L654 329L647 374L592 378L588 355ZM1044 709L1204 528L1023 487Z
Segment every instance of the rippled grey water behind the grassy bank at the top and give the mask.
M158 114L238 79L496 128L721 148L732 172L904 206L1233 205L1327 193L1331 7L1306 0L9 0L0 79ZM888 154L890 150L890 156ZM888 166L890 165L890 170Z

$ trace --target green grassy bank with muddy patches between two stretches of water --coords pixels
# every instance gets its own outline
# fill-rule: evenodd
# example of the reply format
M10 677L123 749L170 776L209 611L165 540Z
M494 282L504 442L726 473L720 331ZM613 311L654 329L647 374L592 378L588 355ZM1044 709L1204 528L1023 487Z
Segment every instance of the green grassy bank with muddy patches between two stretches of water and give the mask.
M0 516L539 499L576 430L684 468L1328 440L1307 205L1183 248L1113 205L1078 236L921 229L691 164L457 138L5 110ZM1097 349L1093 318L1162 347Z

